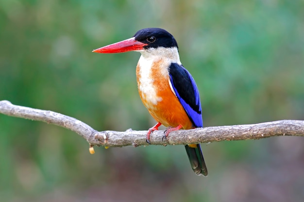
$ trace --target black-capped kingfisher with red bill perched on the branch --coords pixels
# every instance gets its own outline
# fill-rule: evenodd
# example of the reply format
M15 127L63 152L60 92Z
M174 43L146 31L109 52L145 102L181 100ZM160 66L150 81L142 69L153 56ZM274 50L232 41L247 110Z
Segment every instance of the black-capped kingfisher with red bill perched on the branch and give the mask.
M141 56L136 66L138 93L144 106L156 120L146 136L160 125L167 127L163 139L180 129L203 127L198 87L182 65L178 45L168 31L161 28L139 30L129 39L94 49L95 53L136 51ZM207 167L200 144L185 145L192 170L207 176Z

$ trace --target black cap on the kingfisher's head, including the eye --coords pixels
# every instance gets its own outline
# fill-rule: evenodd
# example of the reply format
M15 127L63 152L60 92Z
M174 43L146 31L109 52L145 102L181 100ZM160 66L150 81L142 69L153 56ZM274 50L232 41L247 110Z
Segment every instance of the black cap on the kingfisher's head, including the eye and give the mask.
M144 48L149 47L177 47L177 43L168 31L160 28L146 28L139 30L133 36L136 41L149 44Z

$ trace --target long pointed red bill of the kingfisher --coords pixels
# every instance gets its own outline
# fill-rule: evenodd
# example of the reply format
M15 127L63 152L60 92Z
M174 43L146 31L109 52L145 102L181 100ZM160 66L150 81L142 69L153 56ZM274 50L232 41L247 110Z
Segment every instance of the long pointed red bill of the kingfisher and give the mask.
M122 53L133 50L142 50L144 46L148 44L141 43L135 40L135 37L130 39L126 39L124 41L117 42L115 44L111 44L105 47L100 47L98 49L93 50L95 53Z

